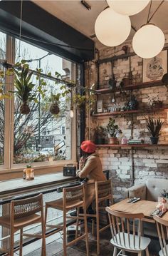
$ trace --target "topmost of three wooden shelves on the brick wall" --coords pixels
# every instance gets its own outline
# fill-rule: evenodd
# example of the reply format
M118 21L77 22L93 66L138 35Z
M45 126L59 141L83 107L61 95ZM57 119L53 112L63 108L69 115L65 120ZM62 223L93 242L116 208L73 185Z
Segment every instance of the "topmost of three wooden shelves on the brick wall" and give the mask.
M162 83L162 80L158 81L152 81L152 82L146 82L146 83L137 83L136 85L130 85L125 86L122 88L122 91L130 91L130 90L137 90L141 88L149 88L149 87L155 87L155 86L164 86L164 83ZM105 93L112 93L112 89L110 88L103 88L95 90L97 93L105 94ZM120 89L116 89L115 92L120 91Z

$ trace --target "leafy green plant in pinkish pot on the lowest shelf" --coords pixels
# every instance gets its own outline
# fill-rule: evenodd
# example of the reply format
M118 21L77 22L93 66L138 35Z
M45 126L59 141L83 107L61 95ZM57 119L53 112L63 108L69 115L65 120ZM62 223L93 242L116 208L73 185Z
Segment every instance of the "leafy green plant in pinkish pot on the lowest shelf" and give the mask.
M107 133L110 135L110 144L117 144L117 133L120 133L121 130L119 126L115 124L115 119L109 118L109 122L107 124Z

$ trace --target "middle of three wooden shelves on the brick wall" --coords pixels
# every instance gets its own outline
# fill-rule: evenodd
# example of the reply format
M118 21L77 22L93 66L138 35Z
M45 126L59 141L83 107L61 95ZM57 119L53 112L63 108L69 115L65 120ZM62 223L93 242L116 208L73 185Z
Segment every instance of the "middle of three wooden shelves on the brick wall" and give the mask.
M105 117L105 116L119 116L119 115L130 115L134 113L152 113L156 111L168 111L168 107L165 108L143 108L143 109L137 109L135 111L114 111L114 112L107 112L107 113L96 113L93 114L93 117Z

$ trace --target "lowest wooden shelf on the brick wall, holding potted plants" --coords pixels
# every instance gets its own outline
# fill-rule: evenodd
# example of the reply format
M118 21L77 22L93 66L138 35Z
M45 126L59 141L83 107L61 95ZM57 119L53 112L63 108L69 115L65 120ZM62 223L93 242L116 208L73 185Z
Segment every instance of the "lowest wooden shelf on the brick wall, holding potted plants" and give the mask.
M168 147L168 144L101 144L96 145L97 148L152 148L152 147Z

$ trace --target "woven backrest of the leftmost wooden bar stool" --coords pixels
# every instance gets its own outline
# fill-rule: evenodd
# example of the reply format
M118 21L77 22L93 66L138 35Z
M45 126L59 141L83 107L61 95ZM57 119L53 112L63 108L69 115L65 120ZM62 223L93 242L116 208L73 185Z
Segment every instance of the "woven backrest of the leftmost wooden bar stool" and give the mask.
M11 201L11 217L14 219L43 212L43 195Z

